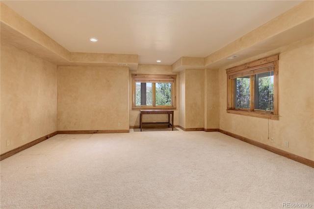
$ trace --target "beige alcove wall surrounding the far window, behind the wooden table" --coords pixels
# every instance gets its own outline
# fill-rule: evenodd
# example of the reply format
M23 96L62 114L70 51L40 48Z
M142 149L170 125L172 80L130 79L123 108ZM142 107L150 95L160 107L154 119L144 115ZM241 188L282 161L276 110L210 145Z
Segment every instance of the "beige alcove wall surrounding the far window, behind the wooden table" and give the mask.
M177 75L172 72L171 65L158 65L158 64L139 64L136 71L130 71L130 127L139 127L139 110L132 110L132 74L147 74L147 75ZM177 76L177 110L174 110L174 125L179 123L179 78ZM147 115L143 117L143 122L164 122L168 121L167 115Z

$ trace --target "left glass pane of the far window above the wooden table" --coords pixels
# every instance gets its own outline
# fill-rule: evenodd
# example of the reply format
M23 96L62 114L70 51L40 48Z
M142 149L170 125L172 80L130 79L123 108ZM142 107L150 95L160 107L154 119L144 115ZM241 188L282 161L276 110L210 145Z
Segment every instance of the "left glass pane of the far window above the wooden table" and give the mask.
M135 83L135 106L152 106L152 83Z

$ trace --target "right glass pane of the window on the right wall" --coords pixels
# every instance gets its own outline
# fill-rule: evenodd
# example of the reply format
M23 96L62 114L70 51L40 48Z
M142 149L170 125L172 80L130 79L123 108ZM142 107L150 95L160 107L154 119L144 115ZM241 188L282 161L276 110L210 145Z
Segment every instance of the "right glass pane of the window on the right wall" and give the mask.
M255 75L255 109L274 110L274 71Z

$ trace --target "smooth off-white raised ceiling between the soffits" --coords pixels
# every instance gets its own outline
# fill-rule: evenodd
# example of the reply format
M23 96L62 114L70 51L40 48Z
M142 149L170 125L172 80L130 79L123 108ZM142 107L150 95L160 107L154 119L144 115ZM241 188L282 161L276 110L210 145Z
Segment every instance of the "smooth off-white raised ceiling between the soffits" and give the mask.
M140 64L172 64L206 57L302 1L2 2L70 52L136 54Z

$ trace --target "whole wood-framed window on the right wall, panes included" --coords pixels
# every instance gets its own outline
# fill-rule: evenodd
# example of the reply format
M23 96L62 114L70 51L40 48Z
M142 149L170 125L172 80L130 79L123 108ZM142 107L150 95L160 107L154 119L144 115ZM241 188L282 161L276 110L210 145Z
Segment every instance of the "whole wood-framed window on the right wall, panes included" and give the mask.
M227 113L278 120L278 59L227 69Z

